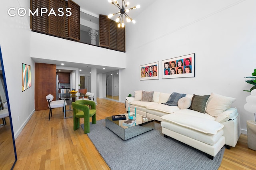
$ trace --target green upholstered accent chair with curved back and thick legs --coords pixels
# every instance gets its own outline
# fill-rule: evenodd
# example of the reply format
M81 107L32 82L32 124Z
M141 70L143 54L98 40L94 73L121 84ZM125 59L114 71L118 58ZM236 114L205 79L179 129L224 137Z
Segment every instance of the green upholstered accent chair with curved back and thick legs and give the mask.
M91 109L87 106L89 105ZM84 118L84 133L90 132L90 117L92 124L96 124L96 104L90 100L77 100L72 102L74 113L74 130L80 127L80 118Z

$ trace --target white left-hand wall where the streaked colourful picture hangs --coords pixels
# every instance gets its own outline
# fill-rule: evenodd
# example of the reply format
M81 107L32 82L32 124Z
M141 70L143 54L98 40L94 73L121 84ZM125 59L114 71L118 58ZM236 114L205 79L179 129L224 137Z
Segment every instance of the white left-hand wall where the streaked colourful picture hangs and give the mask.
M28 17L10 17L10 7L28 9L29 0L4 1L0 6L0 45L6 74L14 137L16 138L35 110L34 62L30 58L30 24ZM22 63L31 65L32 87L22 92ZM19 121L18 121L18 117Z

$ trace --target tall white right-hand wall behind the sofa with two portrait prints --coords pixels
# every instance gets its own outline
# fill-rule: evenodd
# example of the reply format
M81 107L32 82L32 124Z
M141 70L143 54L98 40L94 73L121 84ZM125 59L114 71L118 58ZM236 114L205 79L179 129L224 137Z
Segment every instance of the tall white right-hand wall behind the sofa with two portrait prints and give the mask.
M164 6L168 8L163 8ZM135 90L236 98L242 132L253 114L244 110L245 82L256 68L256 1L161 0L126 24L126 69L120 100ZM140 65L195 53L195 77L140 81Z

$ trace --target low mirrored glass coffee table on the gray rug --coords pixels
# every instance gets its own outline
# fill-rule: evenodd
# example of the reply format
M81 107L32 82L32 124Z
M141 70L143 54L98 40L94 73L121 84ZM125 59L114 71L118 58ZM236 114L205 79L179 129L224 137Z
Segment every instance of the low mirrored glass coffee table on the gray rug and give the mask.
M128 119L128 115L126 113L122 115L125 115L126 119ZM147 118L148 120L144 121L142 118ZM131 127L124 126L124 121L126 120L113 121L111 116L106 117L106 127L123 140L133 138L134 136L138 136L155 128L154 119L138 114L136 115L136 123Z

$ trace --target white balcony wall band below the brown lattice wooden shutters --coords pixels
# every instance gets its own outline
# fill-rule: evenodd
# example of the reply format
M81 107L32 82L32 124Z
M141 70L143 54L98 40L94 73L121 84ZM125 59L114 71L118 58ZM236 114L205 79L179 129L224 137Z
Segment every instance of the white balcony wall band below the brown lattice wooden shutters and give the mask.
M125 53L120 51L36 32L31 32L31 57L117 68L125 68L126 60Z

